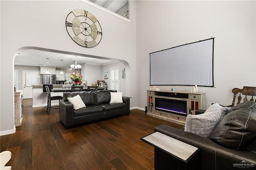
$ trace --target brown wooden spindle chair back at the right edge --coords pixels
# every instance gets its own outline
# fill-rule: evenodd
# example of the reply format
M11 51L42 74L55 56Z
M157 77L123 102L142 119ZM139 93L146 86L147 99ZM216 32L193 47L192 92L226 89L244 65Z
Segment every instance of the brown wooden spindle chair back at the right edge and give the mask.
M235 101L236 101L236 95L237 93L239 93L239 96L237 97L237 104L239 104L242 100L242 97L244 97L242 102L246 102L248 101L248 99L250 99L250 101L254 101L256 102L256 87L248 87L248 86L244 86L242 89L238 89L238 88L234 88L232 90L232 93L234 93L233 95L233 101L232 101L232 105L231 107L233 107L235 105ZM241 96L243 95L243 96ZM248 97L248 99L247 99ZM255 99L254 99L255 97Z

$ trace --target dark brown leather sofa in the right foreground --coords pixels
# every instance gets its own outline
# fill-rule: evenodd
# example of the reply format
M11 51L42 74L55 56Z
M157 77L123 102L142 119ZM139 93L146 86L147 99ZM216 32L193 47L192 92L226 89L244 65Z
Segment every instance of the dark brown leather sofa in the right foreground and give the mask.
M198 136L196 134L185 132L182 129L177 129L166 125L159 125L158 127L155 127L154 131L166 134L167 136L200 148L196 158L198 160L196 170L255 170L256 104L248 101L245 105L249 104L254 105L253 107L248 107L248 111L250 112L249 117L246 109L240 109L241 105L244 105L244 103L232 107L230 111L228 111L228 113L220 120L218 125L216 125L209 138ZM243 121L246 121L246 126L242 125ZM222 136L223 132L225 133L225 136L222 138L222 140L219 140L219 136ZM242 138L240 137L241 135ZM241 146L240 144L243 142L247 142L248 144L244 144L244 146L241 148L233 148L232 146L232 143L238 143L239 146ZM163 161L162 158L162 152L155 152L155 166L159 167L159 165L156 164L159 162L161 163ZM166 164L172 163L173 162L171 162L170 159L166 160ZM174 162L174 164L175 163L176 162Z

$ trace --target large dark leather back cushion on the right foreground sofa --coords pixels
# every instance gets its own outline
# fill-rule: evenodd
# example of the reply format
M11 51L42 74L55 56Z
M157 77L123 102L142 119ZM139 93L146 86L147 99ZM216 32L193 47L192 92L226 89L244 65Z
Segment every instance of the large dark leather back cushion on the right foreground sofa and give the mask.
M246 101L230 109L209 138L226 148L244 149L256 139L256 103Z

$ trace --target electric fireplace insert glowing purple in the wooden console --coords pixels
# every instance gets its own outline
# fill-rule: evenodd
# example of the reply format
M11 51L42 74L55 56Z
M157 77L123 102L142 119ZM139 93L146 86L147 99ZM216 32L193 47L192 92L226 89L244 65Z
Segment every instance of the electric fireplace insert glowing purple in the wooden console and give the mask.
M187 116L187 101L155 97L155 110Z

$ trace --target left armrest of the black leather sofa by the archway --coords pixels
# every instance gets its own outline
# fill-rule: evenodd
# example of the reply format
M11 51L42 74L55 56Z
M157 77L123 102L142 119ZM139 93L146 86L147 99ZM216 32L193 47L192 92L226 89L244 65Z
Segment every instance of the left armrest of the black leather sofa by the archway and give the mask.
M74 105L69 101L60 100L59 106L60 121L66 128L74 126Z

